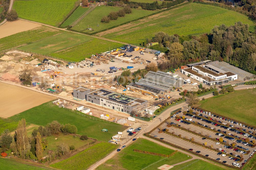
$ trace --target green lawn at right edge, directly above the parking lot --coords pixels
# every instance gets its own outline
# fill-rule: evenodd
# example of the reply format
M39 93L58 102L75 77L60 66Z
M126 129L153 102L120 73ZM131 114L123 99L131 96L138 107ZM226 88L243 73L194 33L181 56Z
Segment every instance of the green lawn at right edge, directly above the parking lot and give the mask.
M237 90L200 101L199 107L256 126L255 99L256 89Z

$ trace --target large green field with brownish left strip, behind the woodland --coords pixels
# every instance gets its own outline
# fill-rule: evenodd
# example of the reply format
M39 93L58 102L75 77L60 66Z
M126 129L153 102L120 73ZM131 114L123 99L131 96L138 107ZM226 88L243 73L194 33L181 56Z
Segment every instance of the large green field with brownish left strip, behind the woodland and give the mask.
M212 5L188 3L96 35L139 45L159 31L185 36L199 35L211 32L216 25L230 26L237 21L249 24L250 30L254 30L255 22L243 14Z

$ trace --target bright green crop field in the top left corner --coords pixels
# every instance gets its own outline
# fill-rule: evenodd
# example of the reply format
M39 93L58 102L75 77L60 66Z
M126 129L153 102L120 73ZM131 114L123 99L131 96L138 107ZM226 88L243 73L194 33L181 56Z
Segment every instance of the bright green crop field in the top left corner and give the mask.
M16 0L13 9L19 18L57 26L79 3L78 0Z

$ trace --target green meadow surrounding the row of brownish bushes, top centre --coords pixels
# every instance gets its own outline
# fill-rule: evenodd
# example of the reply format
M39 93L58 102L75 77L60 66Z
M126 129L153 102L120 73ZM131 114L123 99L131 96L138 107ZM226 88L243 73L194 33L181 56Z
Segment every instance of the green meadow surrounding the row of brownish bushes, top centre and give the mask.
M125 14L124 17L118 17L117 20L111 20L109 23L100 22L103 16L108 15L111 11L118 11L120 9L122 8L112 6L97 6L86 17L78 22L72 29L87 33L94 33L96 31L101 31L106 28L117 26L124 22L131 21L156 12L150 10L132 9L131 14ZM98 24L99 26L97 27ZM87 30L87 25L89 25L89 27L91 27L93 31Z

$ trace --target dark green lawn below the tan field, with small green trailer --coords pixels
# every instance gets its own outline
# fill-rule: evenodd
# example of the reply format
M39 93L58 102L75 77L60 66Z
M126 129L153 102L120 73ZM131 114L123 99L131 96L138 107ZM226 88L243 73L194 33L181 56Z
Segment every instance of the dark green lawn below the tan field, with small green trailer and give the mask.
M27 111L9 117L8 119L18 121L22 118L25 118L27 123L40 126L45 126L47 123L50 123L53 120L57 120L61 124L69 123L77 127L78 134L87 135L100 141L108 141L118 131L123 131L126 129L126 126L117 123L106 121L103 122L80 116L64 108L59 108L58 106L53 105L51 102L33 107ZM101 129L103 128L108 129L109 132L101 132Z

